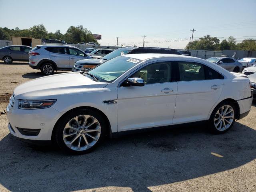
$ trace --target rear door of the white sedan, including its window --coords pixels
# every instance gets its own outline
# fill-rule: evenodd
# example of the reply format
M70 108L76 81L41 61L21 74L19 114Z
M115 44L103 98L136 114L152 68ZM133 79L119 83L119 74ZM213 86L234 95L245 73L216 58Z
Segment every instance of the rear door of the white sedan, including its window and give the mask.
M196 62L177 62L180 74L173 124L206 120L218 101L223 76Z

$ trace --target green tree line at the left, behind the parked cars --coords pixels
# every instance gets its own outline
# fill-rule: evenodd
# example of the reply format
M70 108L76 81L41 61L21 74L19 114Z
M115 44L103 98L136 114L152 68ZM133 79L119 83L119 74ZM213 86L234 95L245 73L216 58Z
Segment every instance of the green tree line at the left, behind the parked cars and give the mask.
M82 25L70 26L66 34L62 34L60 30L56 30L55 33L47 32L43 24L38 24L29 29L20 29L18 27L14 29L0 28L0 40L11 40L12 36L19 37L32 37L32 38L45 38L45 39L57 39L64 40L65 42L95 42L98 43L92 32Z

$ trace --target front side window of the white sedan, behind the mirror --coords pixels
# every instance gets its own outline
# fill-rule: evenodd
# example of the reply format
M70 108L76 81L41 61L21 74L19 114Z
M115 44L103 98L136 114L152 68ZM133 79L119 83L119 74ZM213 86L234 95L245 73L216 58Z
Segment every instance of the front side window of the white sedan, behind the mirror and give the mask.
M171 81L170 62L149 64L135 72L130 77L142 78L145 84L166 83Z

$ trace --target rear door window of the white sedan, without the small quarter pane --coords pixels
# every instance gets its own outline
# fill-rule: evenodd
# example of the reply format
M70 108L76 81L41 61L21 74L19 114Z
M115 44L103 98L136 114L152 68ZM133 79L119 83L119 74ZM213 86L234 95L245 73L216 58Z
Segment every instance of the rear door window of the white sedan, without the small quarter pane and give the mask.
M178 62L180 81L204 80L203 64L194 62Z

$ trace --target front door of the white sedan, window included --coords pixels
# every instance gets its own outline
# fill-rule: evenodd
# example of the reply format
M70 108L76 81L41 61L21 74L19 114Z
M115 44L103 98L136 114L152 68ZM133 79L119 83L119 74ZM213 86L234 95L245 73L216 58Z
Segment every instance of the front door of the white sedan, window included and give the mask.
M177 82L170 62L151 63L130 77L142 78L142 87L118 87L118 132L172 124Z

